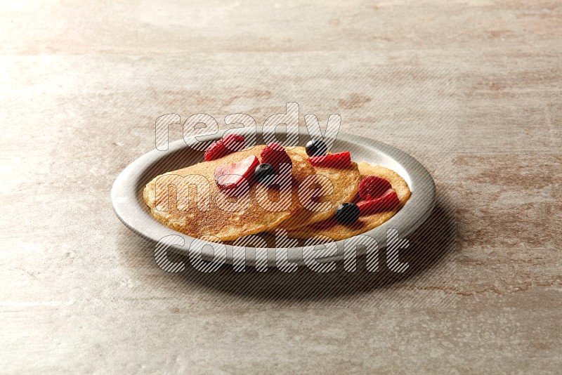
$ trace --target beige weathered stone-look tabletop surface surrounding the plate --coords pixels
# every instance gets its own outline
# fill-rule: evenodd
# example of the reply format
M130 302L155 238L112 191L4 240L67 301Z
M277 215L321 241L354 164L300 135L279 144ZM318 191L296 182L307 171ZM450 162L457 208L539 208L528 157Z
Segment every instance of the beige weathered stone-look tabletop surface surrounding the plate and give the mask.
M0 11L1 372L559 371L560 1ZM155 119L287 101L431 171L410 269L160 270L110 204Z

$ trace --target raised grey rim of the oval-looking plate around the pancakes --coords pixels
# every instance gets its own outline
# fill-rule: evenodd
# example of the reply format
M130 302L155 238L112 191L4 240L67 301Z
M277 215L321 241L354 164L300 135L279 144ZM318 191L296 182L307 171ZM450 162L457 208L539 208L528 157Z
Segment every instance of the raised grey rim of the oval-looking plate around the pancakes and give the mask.
M257 140L260 136L263 138L263 134L275 133L276 126L256 126L255 129ZM204 138L205 140L217 140L220 139L223 136L223 133L226 133L227 131L231 133L235 132L244 136L244 134L249 134L250 131L253 133L254 128L225 129L218 131L212 136L204 136ZM299 137L300 136L311 138L308 133L308 129L304 126L299 126ZM159 240L169 235L180 236L183 238L183 244L170 246L170 249L183 255L189 254L189 250L195 238L185 235L181 232L177 232L176 230L168 228L166 225L163 225L162 223L156 221L155 218L152 217L152 215L145 211L144 207L141 205L141 202L139 202L139 192L137 189L139 180L141 176L143 176L143 171L145 171L148 166L152 166L155 163L159 162L159 160L166 158L166 155L170 154L171 152L177 152L186 147L194 148L194 146L198 143L195 137L196 136L190 136L175 140L174 142L169 143L168 150L166 151L154 149L141 155L141 157L135 159L133 162L131 162L131 164L126 166L125 169L123 169L123 171L119 173L111 189L111 201L113 210L115 211L117 218L119 218L119 220L122 221L122 223L127 228L129 228L129 230L155 243L158 243ZM202 136L199 137L201 138ZM402 166L409 177L408 179L410 180L408 186L412 191L412 195L410 199L408 199L408 201L405 203L405 205L400 209L400 211L398 211L398 213L396 213L396 215L394 215L388 221L382 223L376 228L373 228L372 230L362 233L361 235L369 235L371 237L374 237L374 239L377 240L377 244L379 245L378 249L383 249L386 246L387 229L398 230L400 237L403 238L407 235L410 235L414 230L419 228L419 225L421 225L421 223L426 221L426 219L431 215L431 211L433 211L433 208L435 206L436 185L429 171L427 171L427 169L419 161L417 161L417 159L412 157L410 154L403 152L397 147L382 143L378 140L373 140L371 138L357 136L355 134L339 132L337 140L357 143L362 147L367 147L370 152L376 151L386 154L388 157L393 159L394 162L397 162L398 164L400 164L400 166ZM256 142L256 144L259 143ZM405 178L405 176L402 177ZM147 220L149 220L148 223ZM334 241L337 246L336 255L325 256L322 258L317 258L316 260L319 263L341 261L344 258L344 245L346 241L355 237L358 236ZM211 258L214 257L214 250L211 249L209 251L209 246L205 245L210 244L211 246L216 246L216 244L201 239L197 239L196 243L201 244L201 246L199 246L201 254L211 256ZM225 262L228 264L233 264L233 251L243 251L244 247L234 246L231 244L225 244L225 246L227 254ZM207 249L207 251L205 249ZM254 248L251 247L250 249ZM277 247L258 247L255 249L256 251L268 251L268 262L275 263L276 255L270 254L270 250L275 251ZM290 247L287 249L287 260L291 263L303 265L303 252L313 249L315 249L315 245ZM255 252L254 257L252 257L251 254L250 256L248 256L247 252L245 254L245 265L256 265ZM357 251L357 256L361 256L362 254L365 254L365 249L363 249L362 251Z

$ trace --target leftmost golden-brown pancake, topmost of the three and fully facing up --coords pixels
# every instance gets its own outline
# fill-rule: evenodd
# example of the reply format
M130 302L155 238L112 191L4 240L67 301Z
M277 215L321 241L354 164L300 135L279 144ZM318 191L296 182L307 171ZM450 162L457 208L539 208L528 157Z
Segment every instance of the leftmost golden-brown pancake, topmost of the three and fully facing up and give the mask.
M289 216L303 210L298 198L299 184L314 173L313 166L306 158L295 152L287 152L293 163L292 196L287 199L286 206L277 209L279 211L272 211L274 202L270 206L263 204L266 192L271 201L279 199L279 187L272 186L264 190L264 185L251 183L247 195L229 198L218 189L214 180L214 171L218 166L239 162L251 155L259 157L264 147L259 145L251 150L241 150L211 162L157 176L145 186L143 192L152 216L178 232L212 242L231 241L274 229ZM192 188L192 185L197 188Z

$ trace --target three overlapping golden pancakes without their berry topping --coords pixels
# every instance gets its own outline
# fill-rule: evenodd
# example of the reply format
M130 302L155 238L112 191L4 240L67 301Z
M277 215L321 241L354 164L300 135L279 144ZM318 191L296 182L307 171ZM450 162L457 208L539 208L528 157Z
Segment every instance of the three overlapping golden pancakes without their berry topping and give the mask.
M365 162L313 163L305 147L285 149L291 164L285 180L260 182L254 178L256 166L252 164L249 167L252 174L242 181L244 188L236 194L232 194L234 190L224 190L216 171L221 166L256 158L257 163L259 157L265 163L263 155L269 151L265 150L267 147L270 146L243 148L155 177L143 191L152 216L178 232L211 242L229 242L276 228L287 230L289 237L306 239L325 235L336 240L381 225L410 197L405 180L390 169ZM362 214L353 223L336 220L336 210L341 204L359 201L360 182L367 176L387 180L396 191L399 203L383 211Z

